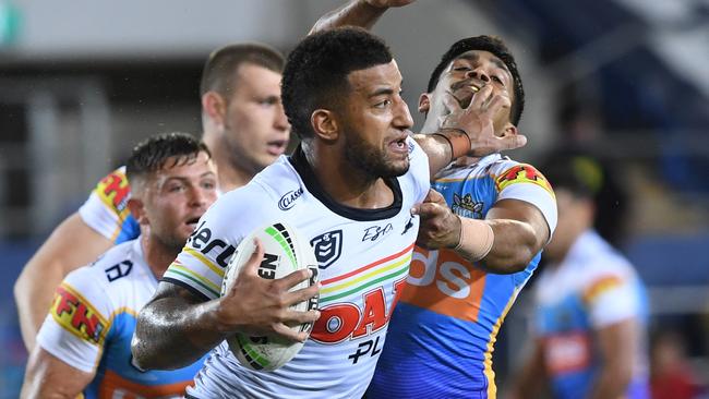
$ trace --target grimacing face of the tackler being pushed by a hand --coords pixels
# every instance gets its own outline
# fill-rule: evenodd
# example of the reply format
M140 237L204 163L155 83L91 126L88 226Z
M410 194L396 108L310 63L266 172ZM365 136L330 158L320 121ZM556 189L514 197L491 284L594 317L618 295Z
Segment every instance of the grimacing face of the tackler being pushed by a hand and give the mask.
M492 86L493 94L506 96L514 101L514 80L502 60L489 51L464 52L450 61L441 74L435 89L429 94L430 104L425 105L425 109L423 106L419 109L429 112L426 118L438 119L449 112L443 104L446 92L453 94L465 108L470 105L472 96L488 85ZM509 107L503 107L495 116L493 124L496 133L502 134L509 123Z

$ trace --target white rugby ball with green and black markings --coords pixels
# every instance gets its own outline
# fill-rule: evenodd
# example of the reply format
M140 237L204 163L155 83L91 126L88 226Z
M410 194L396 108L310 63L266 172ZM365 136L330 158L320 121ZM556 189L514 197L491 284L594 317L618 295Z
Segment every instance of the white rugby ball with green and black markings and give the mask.
M308 281L295 286L291 291L317 282L317 259L308 238L301 235L293 227L277 222L256 229L241 241L225 270L221 295L231 289L239 276L239 270L255 251L255 238L261 241L264 249L264 258L259 266L259 276L266 279L278 279L296 270L310 268L313 270L313 276ZM314 297L290 309L310 311L316 307L317 297ZM313 323L305 323L291 328L310 334ZM283 366L304 344L303 342L289 342L276 337L254 337L240 332L227 338L227 342L229 349L242 365L260 371L272 371Z

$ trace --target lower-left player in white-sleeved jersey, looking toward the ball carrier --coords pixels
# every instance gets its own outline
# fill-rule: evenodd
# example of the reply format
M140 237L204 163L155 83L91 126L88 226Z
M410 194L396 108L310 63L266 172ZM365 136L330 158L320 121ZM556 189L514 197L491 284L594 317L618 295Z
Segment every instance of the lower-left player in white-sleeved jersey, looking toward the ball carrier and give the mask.
M132 365L137 312L217 198L207 147L184 133L139 144L128 161L131 215L141 235L61 282L32 351L23 397L182 397L202 360L170 372Z

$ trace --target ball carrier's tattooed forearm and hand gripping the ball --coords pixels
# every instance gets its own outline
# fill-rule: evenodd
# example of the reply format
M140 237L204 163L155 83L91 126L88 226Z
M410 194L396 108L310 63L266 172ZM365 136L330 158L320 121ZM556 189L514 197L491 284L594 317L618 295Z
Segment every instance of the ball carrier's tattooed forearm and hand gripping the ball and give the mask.
M320 286L289 292L310 278L311 271L305 269L276 280L261 278L257 269L263 255L256 242L256 251L231 290L212 301L205 302L177 285L160 282L137 318L131 342L136 365L146 370L182 367L237 331L304 341L307 332L296 332L288 326L314 322L320 312L289 307L317 294Z

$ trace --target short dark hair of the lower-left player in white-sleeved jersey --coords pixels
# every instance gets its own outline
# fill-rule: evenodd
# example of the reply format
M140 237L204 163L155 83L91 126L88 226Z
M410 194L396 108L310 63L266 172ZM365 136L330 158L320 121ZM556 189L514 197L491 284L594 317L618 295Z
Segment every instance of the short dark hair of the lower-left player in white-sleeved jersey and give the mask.
M207 146L188 133L156 134L139 143L131 153L125 164L128 181L133 184L136 179L144 179L151 173L165 168L176 167L192 162L200 153L206 153L209 158L212 153ZM168 159L173 158L170 165Z

